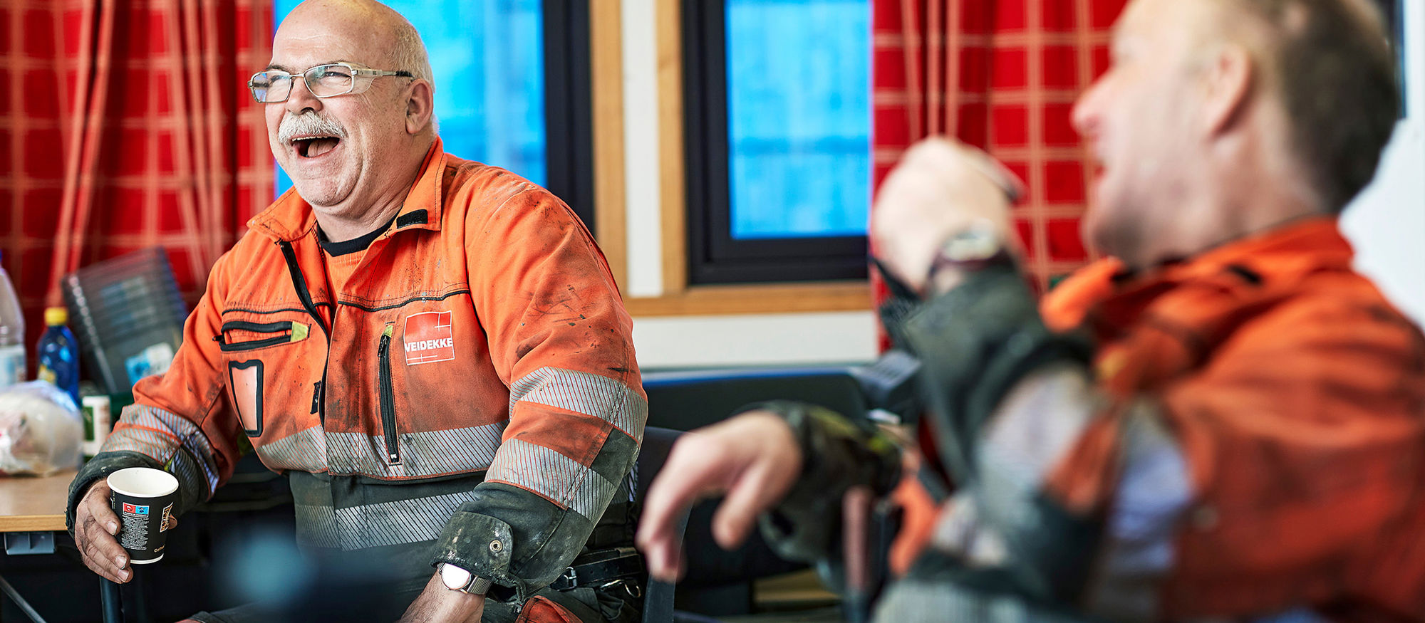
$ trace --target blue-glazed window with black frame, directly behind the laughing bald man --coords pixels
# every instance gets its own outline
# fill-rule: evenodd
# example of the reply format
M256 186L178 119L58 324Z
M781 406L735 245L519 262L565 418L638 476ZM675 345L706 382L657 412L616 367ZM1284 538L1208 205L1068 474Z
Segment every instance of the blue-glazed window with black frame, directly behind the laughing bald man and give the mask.
M445 151L543 185L593 223L593 172L577 166L577 154L591 149L587 3L383 1L426 44ZM274 0L274 23L296 4ZM281 193L292 182L276 174Z

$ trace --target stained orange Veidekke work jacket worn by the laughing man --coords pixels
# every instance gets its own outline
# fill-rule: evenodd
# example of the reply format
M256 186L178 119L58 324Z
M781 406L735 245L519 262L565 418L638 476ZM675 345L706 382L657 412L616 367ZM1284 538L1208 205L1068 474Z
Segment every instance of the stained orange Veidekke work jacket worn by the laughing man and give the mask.
M248 226L172 367L76 478L71 518L135 464L174 472L187 511L245 441L292 476L301 545L433 542L412 572L453 562L520 602L563 572L627 495L647 418L631 320L579 218L437 139L341 290L295 192Z

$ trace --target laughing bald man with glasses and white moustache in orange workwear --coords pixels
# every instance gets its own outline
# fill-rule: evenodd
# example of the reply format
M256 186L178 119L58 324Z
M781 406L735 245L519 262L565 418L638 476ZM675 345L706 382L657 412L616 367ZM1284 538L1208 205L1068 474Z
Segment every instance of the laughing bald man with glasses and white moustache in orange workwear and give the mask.
M319 569L390 579L395 610L358 617L634 620L647 403L587 229L549 191L445 154L425 46L383 4L298 6L248 87L294 191L217 262L171 370L134 387L76 476L86 565L133 577L107 474L172 472L182 513L245 438L289 478Z

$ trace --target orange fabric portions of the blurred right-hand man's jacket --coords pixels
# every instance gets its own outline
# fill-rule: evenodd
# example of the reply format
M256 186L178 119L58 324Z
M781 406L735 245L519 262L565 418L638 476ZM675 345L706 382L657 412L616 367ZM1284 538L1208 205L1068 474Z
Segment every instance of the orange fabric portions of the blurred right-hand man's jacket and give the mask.
M1425 620L1425 339L1351 256L1335 219L1307 219L1151 276L1104 260L1043 302L1186 459L1163 619ZM1047 495L1112 512L1123 425L1096 418Z

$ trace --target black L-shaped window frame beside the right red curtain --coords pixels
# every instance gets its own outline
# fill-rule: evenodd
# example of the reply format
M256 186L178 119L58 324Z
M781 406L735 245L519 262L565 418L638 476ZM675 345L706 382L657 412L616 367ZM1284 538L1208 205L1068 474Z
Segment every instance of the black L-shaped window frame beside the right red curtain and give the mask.
M866 279L866 236L732 238L727 3L680 1L688 283Z

